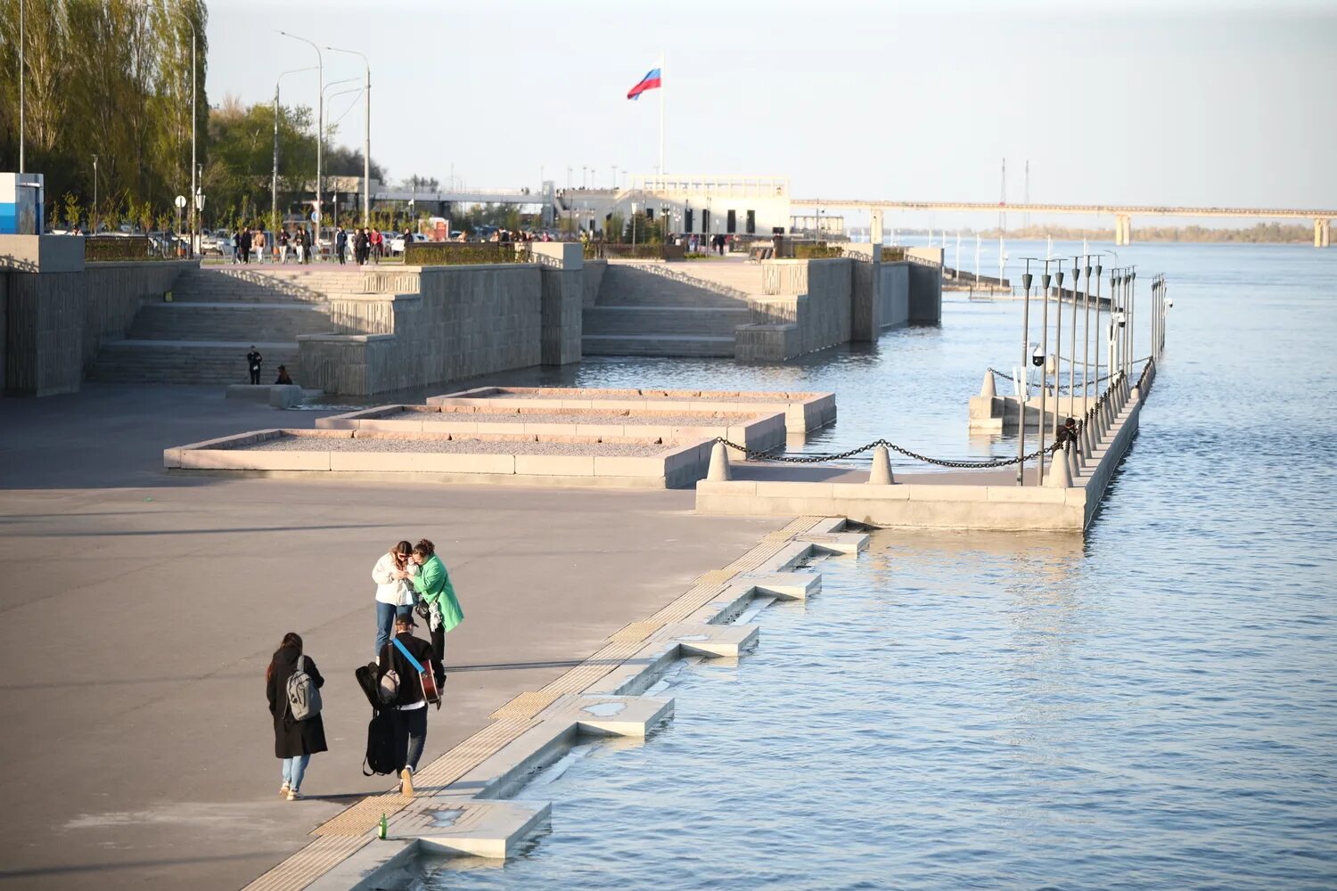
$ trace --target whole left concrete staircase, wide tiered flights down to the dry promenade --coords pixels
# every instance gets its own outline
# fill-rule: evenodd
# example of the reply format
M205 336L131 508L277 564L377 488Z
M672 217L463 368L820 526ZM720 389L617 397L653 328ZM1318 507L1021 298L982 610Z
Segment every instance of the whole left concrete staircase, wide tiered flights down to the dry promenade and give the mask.
M126 339L103 345L88 379L246 383L251 345L265 357L262 382L271 382L279 365L297 378L297 335L332 330L329 297L365 289L356 266L191 269L176 279L171 303L146 303Z

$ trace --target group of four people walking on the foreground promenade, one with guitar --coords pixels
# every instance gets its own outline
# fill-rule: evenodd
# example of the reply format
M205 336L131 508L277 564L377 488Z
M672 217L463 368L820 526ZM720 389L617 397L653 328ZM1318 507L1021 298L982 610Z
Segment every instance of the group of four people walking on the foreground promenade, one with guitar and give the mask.
M437 691L445 684L445 635L464 620L451 576L427 538L416 545L400 541L372 568L376 584L376 661L365 669L374 676L373 709L385 723L393 747L390 769L400 793L413 795L413 773L427 745L428 703L440 708ZM414 635L417 620L428 637ZM360 681L361 683L361 681ZM265 691L274 721L274 755L282 761L279 795L302 797L302 779L312 755L328 751L321 719L325 677L305 652L302 637L289 632L265 671ZM366 688L364 687L364 692ZM370 697L373 693L368 693ZM373 720L376 732L377 721ZM368 740L368 751L373 740Z

